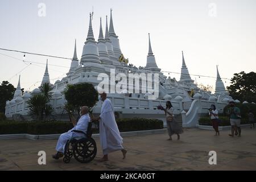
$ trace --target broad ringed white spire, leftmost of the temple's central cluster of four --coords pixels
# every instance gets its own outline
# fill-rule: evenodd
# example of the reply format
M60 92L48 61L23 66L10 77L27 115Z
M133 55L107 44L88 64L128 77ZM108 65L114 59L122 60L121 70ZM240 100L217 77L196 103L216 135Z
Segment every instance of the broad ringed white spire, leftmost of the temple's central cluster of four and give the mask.
M84 64L85 62L101 63L98 54L98 47L93 36L92 14L90 14L89 30L86 42L84 43L84 48L82 49L82 57L80 64Z

